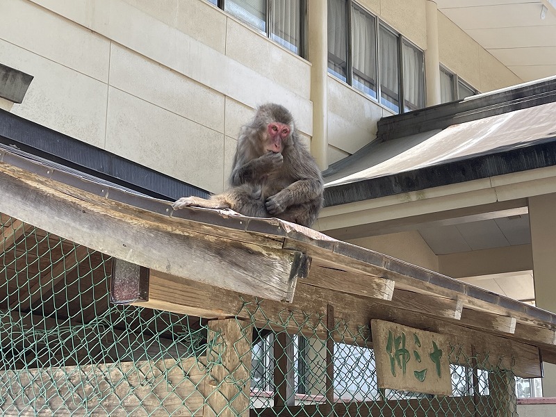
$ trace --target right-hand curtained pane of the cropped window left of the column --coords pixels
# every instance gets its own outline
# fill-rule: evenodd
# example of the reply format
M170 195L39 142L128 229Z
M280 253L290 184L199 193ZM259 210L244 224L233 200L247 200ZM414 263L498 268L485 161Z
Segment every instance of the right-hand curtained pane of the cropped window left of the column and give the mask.
M299 55L301 0L272 0L270 10L272 10L270 38Z

